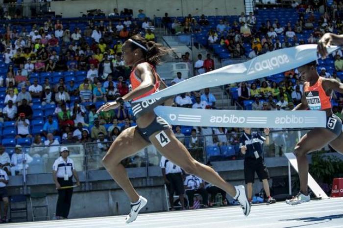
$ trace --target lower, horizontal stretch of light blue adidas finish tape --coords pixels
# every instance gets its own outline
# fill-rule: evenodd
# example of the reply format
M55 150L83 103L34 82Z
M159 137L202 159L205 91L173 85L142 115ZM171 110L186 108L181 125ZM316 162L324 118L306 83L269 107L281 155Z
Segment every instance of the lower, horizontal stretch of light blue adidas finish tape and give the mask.
M248 128L324 128L324 111L207 110L158 106L155 113L172 125Z

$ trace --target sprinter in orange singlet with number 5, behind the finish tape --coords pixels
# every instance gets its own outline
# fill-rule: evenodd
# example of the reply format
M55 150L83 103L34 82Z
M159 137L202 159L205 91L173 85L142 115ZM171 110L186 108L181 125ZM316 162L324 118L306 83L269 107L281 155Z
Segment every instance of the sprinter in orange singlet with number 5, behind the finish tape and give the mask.
M304 94L301 103L294 110L322 110L326 113L326 127L314 128L295 145L294 154L298 162L300 192L287 204L297 205L310 201L307 189L308 161L306 154L323 148L329 144L336 151L343 152L342 120L331 109L331 93L343 93L343 84L335 79L320 77L316 61L298 68L304 80Z

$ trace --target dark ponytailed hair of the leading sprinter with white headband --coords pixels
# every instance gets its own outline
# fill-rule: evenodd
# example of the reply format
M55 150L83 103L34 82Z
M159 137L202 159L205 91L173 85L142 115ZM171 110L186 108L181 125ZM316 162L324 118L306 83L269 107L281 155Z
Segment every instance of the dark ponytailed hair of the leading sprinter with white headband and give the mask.
M137 46L132 42L129 42L132 49L140 48L143 51L143 54L145 55L146 61L153 66L160 64L161 57L169 54L172 51L172 49L167 48L161 44L155 43L153 41L147 42L147 40L139 34L131 36L130 39L139 43L142 46L147 47L147 50L144 50L142 47Z

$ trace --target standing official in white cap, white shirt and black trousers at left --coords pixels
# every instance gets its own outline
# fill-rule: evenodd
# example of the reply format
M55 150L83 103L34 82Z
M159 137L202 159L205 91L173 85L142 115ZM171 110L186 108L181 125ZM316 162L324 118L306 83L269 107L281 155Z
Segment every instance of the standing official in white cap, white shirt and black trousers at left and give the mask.
M73 177L76 180L76 185L80 185L74 162L68 156L68 148L66 146L61 147L60 157L55 160L52 166L52 177L58 189L56 219L68 218L73 196L73 187L61 188L73 186Z

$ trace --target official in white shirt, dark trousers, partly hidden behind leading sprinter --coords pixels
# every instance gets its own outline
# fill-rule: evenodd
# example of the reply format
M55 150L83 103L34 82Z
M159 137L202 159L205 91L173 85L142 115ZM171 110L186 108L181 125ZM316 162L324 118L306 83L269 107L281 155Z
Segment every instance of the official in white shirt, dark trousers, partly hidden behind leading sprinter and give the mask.
M174 193L179 196L182 209L185 209L184 194L185 188L182 181L182 169L180 166L175 165L172 161L162 156L160 161L160 167L162 168L162 175L164 182L169 192L169 202L171 204L171 210L174 210Z

